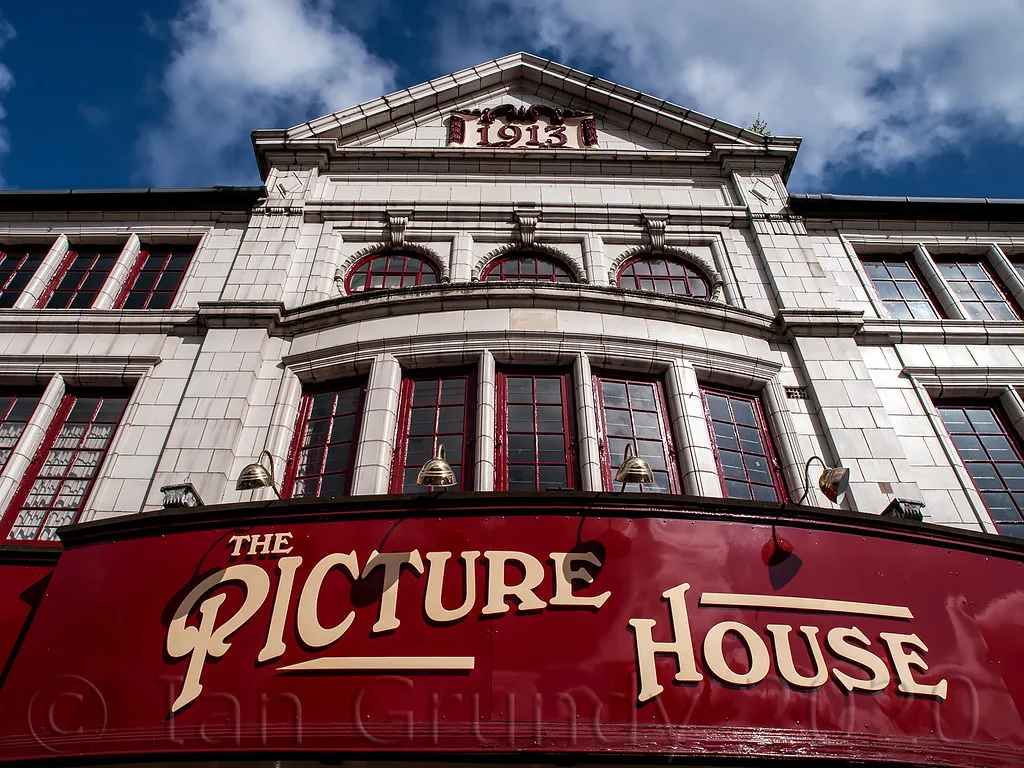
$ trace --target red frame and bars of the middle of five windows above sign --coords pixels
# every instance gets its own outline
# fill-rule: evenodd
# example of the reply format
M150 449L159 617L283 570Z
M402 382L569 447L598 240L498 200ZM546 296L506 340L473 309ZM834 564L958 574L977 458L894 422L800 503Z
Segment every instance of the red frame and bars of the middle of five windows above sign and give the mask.
M529 378L532 380L532 402L527 403L525 401L518 401L514 403L509 402L509 380L510 379L521 379ZM537 400L537 381L538 380L557 380L559 382L559 391L561 396L561 431L554 432L551 430L541 430L539 424L539 408L554 404L553 402L538 402ZM511 481L509 479L510 467L517 466L532 466L534 467L534 490L546 489L542 488L542 482L540 479L540 469L541 467L564 467L565 469L565 483L560 487L564 489L573 489L580 486L579 477L579 464L577 462L577 437L575 437L575 403L573 401L573 391L572 391L572 375L569 372L562 371L538 371L538 370L516 370L509 369L506 371L499 371L497 373L496 380L496 394L497 394L497 406L498 406L498 418L496 424L496 434L495 434L495 449L496 449L496 469L497 476L495 477L495 489L496 490L509 490ZM534 407L532 416L532 430L525 429L509 429L509 416L511 408L516 406L531 404ZM540 437L551 436L560 434L562 436L562 450L564 451L564 462L550 462L540 460ZM509 457L510 446L513 441L518 441L518 437L532 435L534 445L532 445L532 462L527 461L511 461ZM525 490L525 488L515 488L517 490Z

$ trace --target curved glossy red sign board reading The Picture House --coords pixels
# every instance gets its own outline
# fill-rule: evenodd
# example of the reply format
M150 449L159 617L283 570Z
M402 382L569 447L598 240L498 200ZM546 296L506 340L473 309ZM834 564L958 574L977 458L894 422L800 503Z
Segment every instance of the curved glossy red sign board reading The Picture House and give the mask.
M0 688L0 759L1024 764L1011 547L605 499L79 526Z

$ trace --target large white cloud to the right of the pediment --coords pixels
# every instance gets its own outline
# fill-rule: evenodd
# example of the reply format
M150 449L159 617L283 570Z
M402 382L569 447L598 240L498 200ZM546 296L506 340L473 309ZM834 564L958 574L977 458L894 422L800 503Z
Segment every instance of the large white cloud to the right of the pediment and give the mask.
M805 137L795 185L973 137L1024 142L1020 0L472 0L473 53L529 41L716 118ZM454 37L453 28L446 28ZM519 43L521 44L521 43ZM458 60L454 40L443 48Z

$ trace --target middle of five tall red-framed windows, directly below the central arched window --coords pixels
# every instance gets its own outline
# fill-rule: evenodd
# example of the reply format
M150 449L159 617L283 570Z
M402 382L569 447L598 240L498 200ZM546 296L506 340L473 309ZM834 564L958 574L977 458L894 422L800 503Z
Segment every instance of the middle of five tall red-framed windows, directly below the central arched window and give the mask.
M568 374L499 373L497 490L577 486Z

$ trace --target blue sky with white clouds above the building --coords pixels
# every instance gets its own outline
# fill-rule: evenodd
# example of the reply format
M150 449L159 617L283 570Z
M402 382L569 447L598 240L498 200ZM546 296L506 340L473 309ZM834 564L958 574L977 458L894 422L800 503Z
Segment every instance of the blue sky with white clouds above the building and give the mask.
M1024 198L1024 3L0 5L0 183L257 183L249 132L515 50L776 134L791 188Z

